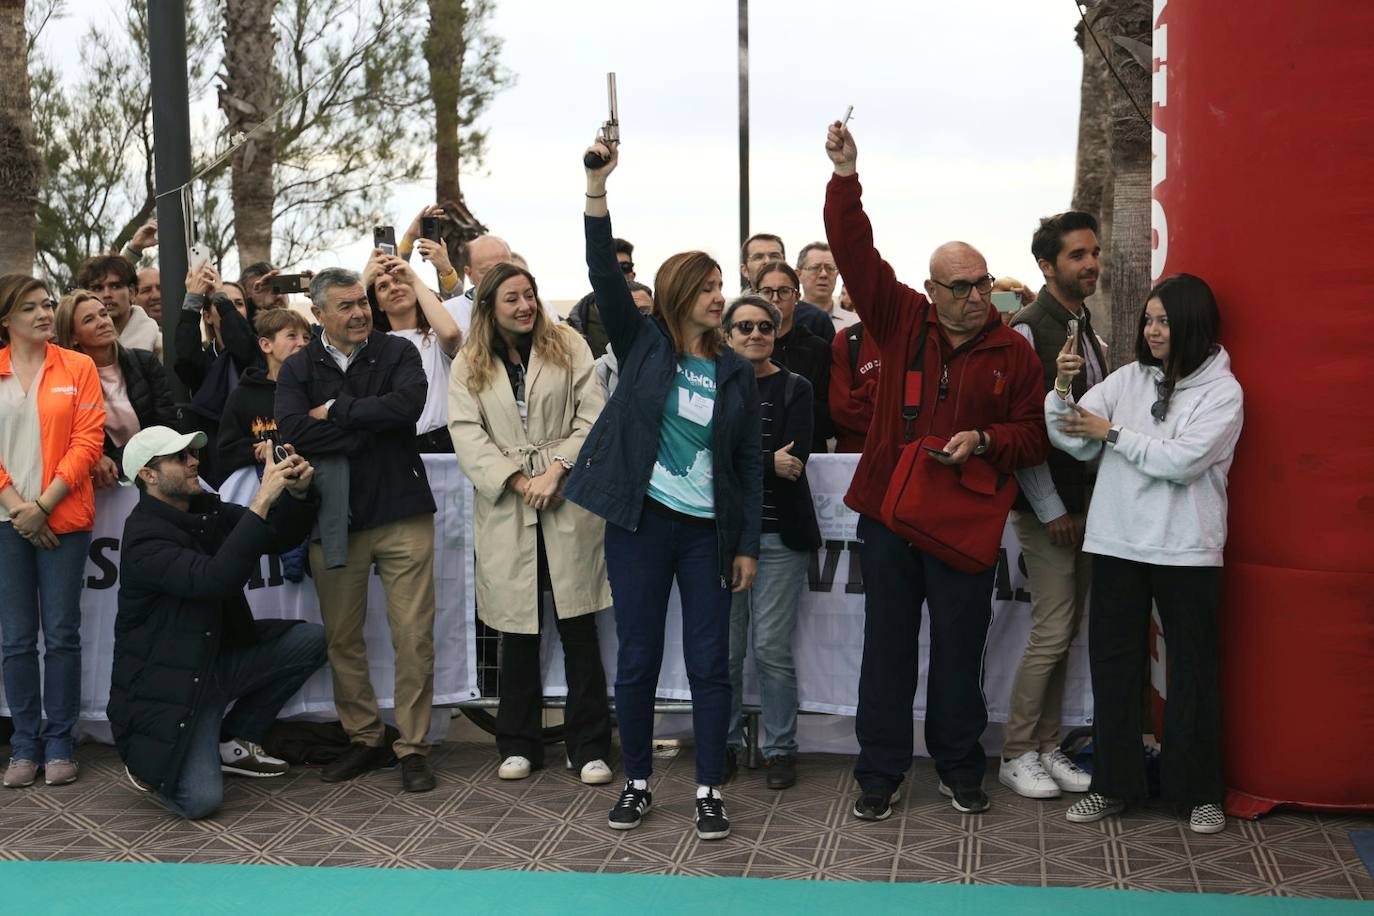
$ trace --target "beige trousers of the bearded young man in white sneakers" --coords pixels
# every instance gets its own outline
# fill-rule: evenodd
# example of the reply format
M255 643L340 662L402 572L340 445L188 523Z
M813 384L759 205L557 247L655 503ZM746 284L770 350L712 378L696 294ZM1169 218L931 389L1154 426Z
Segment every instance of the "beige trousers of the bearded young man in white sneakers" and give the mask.
M1083 515L1073 515L1083 530ZM1069 644L1079 632L1092 581L1092 558L1081 548L1057 547L1035 512L1011 512L1030 577L1030 639L1011 681L1007 759L1026 751L1048 754L1059 743Z

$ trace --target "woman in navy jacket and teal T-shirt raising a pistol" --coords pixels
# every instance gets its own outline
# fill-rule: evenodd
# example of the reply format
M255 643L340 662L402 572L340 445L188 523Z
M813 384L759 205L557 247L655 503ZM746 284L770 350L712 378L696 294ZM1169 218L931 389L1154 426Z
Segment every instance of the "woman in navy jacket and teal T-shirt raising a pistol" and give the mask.
M591 155L584 158L587 272L620 360L620 385L583 448L567 499L607 522L627 777L607 820L613 829L639 827L653 802L654 689L676 581L697 742L697 836L724 839L730 602L758 571L758 386L753 367L720 334L725 299L710 255L682 251L664 261L654 314L635 308L606 207L618 148L598 141L588 154L605 165L591 168Z

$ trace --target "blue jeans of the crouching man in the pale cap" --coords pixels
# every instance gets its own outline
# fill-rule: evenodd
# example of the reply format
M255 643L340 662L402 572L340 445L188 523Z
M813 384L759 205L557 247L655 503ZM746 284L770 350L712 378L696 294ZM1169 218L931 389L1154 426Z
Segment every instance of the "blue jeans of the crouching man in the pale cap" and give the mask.
M258 621L258 632L264 623L279 625ZM227 735L261 743L286 700L324 661L324 628L319 623L295 623L257 645L221 650L214 677L195 710L181 772L170 791L161 795L162 803L173 814L192 820L213 814L224 801L221 726ZM224 707L234 700L225 715Z

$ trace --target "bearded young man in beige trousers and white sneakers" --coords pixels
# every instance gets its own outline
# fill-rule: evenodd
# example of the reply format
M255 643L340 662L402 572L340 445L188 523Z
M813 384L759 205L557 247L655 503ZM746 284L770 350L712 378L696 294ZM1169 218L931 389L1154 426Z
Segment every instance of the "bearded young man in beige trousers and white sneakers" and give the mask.
M1106 360L1083 304L1096 290L1101 271L1096 217L1069 210L1040 220L1030 253L1046 284L1035 302L1011 320L1011 330L1040 357L1046 391L1054 385L1055 358L1065 338L1077 334L1084 371L1073 380L1073 397L1080 400L1106 376ZM1095 472L1091 464L1058 449L1050 449L1044 464L1017 471L1021 494L1011 523L1030 577L1030 637L1011 685L998 779L1026 798L1085 792L1091 781L1059 750L1059 709L1069 644L1088 595L1083 526Z

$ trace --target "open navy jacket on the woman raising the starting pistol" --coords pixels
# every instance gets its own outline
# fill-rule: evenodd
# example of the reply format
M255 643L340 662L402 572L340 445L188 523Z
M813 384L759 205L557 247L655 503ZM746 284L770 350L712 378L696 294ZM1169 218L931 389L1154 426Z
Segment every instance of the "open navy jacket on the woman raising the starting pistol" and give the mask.
M642 314L629 295L616 261L610 217L584 220L587 273L620 361L620 385L587 435L565 494L611 525L635 531L658 459L677 353L664 321ZM735 556L758 556L764 486L760 437L754 367L723 346L716 357L710 452L720 575L727 582Z

